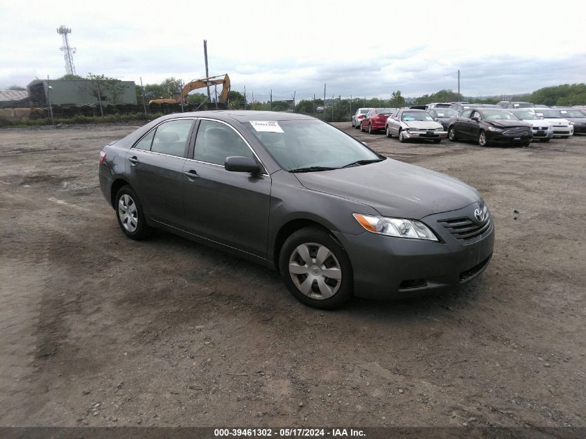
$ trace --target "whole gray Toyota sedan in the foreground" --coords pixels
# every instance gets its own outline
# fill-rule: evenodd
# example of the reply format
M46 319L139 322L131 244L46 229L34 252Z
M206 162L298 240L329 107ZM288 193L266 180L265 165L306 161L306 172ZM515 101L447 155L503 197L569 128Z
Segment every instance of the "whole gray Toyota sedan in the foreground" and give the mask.
M170 114L105 146L99 177L128 238L157 227L276 268L311 307L456 286L492 257L475 189L301 114Z

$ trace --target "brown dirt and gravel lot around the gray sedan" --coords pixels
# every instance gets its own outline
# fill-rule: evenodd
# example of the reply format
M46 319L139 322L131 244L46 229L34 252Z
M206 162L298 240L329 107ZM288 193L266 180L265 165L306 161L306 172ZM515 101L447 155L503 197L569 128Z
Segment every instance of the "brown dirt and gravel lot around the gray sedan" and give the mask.
M1 130L0 425L586 426L586 137L483 149L338 126L481 192L497 241L479 279L309 309L270 270L123 237L98 153L135 127Z

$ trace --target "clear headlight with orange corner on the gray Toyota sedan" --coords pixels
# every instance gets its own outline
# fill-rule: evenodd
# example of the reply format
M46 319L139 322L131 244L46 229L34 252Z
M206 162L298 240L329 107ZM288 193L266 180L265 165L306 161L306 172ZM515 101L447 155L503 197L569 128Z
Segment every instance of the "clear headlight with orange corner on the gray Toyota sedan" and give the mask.
M371 233L397 236L398 238L438 241L436 235L420 221L363 214L353 214L353 216L365 230Z

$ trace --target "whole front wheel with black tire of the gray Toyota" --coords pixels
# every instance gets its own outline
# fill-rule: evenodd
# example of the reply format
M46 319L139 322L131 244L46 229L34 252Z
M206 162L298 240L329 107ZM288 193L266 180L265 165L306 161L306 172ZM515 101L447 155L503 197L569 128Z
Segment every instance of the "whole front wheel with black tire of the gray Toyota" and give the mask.
M305 227L289 236L279 255L287 289L308 307L336 309L353 295L352 264L331 234Z

